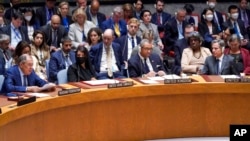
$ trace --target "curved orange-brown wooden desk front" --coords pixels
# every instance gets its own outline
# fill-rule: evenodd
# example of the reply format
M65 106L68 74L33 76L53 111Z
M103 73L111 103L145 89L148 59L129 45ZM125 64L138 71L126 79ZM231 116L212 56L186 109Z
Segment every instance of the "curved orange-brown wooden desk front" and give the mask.
M229 136L230 124L250 123L249 93L249 84L225 83L84 90L3 113L0 140L140 141Z

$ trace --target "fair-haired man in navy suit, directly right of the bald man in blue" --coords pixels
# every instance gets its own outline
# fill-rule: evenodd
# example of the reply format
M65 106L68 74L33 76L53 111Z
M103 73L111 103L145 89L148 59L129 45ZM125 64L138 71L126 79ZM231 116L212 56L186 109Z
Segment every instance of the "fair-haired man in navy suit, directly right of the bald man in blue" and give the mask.
M115 42L118 43L122 48L122 57L123 61L127 61L134 48L141 42L141 38L136 35L139 29L140 22L136 18L131 18L128 21L128 33L119 38L115 39Z

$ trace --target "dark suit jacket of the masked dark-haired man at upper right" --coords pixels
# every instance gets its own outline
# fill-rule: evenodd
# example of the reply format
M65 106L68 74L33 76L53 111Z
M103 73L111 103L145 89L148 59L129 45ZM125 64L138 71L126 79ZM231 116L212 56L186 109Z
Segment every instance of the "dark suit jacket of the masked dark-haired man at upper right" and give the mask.
M244 25L244 22L240 19L237 20L237 23L240 28L240 33L241 35L245 38L248 39L247 31ZM226 22L223 23L223 29L226 30L228 27L234 27L230 19L228 19Z

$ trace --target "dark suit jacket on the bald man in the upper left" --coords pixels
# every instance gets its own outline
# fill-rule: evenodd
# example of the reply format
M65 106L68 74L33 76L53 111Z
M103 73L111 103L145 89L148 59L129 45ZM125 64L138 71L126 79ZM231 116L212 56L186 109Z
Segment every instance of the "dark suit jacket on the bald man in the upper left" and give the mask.
M52 27L50 24L41 27L41 30L45 33L45 39L47 45L51 46L52 43ZM60 47L61 39L67 36L68 33L64 26L60 25L57 29L57 47Z

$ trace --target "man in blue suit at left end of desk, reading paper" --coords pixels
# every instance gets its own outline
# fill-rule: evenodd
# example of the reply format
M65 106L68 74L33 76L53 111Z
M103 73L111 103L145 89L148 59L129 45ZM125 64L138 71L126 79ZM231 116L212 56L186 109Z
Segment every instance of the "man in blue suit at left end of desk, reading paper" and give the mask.
M45 87L54 88L54 84L47 84L36 75L32 66L32 57L29 54L21 55L17 65L10 67L5 75L4 92L40 92Z

